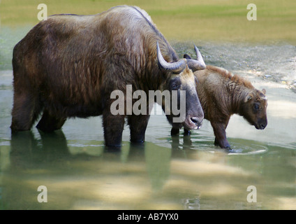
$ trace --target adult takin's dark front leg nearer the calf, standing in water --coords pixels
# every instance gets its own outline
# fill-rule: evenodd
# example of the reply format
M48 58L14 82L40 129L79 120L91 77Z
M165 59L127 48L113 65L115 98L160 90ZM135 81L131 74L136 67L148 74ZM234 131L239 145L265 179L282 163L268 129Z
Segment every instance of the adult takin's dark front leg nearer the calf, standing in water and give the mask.
M128 125L131 130L131 142L143 143L145 141L145 132L149 118L149 115L128 116Z

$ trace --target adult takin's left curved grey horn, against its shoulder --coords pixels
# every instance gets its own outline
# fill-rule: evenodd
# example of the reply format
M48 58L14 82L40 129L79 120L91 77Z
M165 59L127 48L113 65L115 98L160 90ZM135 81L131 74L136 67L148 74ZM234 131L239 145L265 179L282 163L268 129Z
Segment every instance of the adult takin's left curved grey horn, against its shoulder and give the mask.
M158 64L162 69L179 73L186 68L186 59L179 59L179 61L172 63L166 62L163 55L161 55L161 49L159 48L158 42L156 43L156 47Z

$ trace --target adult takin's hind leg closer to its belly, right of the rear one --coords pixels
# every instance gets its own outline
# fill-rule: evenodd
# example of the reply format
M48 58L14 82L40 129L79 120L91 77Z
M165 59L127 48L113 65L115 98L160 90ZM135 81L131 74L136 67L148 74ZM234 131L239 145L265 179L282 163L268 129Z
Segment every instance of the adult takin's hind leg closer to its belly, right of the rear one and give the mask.
M38 130L43 132L53 132L55 130L61 129L61 127L66 122L66 118L58 118L57 116L53 116L49 113L49 111L45 110L43 112L43 116L39 121L36 127Z

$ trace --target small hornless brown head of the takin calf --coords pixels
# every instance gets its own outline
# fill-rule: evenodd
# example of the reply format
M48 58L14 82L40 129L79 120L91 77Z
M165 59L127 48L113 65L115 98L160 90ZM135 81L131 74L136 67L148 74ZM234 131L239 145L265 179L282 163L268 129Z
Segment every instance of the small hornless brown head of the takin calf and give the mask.
M253 90L244 98L241 115L258 130L267 126L267 97L265 89Z

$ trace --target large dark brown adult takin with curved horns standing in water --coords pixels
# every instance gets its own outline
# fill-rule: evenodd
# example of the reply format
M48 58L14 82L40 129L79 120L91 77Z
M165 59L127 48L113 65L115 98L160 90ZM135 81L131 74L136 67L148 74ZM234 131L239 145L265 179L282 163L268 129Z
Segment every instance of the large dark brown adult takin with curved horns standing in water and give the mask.
M127 116L110 111L116 100L110 94L126 92L127 85L146 93L184 90L182 126L197 129L203 111L193 71L205 69L205 62L195 51L197 59L179 59L145 10L135 6L96 15L52 15L13 49L11 130L30 130L40 113L36 127L43 132L60 129L67 118L103 115L107 146L121 145L125 118L131 141L145 141L150 113Z

